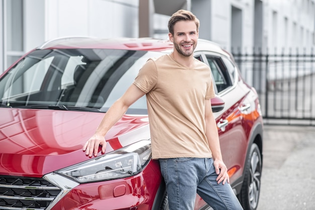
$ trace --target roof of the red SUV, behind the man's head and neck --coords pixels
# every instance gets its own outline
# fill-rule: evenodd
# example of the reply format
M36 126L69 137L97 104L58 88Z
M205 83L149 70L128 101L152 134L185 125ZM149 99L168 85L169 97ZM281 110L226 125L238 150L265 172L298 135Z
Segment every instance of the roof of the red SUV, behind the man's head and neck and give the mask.
M173 43L167 39L154 38L98 38L62 37L50 40L37 49L125 49L145 51L172 51ZM198 39L196 51L211 51L229 56L217 43Z

